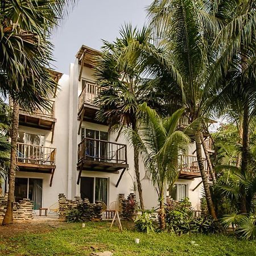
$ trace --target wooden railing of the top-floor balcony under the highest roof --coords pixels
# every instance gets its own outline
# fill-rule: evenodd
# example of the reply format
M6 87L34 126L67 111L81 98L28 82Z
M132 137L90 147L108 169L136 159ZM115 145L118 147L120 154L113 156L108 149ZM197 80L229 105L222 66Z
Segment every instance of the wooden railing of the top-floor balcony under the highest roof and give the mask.
M89 105L95 105L94 99L97 97L98 93L102 90L102 88L96 84L92 84L91 82L85 82L84 89L79 96L79 110L86 103Z

